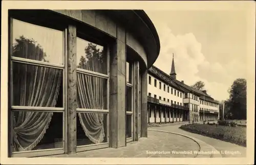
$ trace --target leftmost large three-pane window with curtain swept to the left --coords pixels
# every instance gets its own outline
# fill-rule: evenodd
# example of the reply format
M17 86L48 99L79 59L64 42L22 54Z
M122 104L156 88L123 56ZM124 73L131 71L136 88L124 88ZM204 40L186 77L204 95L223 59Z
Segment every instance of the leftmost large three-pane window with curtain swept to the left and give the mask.
M10 27L10 95L12 106L21 108L11 108L12 152L63 148L63 31L16 19L12 19ZM56 64L58 67L54 67ZM48 112L35 111L39 106ZM63 109L54 112L59 108ZM53 133L56 129L59 132ZM58 147L51 145L54 139L60 141Z

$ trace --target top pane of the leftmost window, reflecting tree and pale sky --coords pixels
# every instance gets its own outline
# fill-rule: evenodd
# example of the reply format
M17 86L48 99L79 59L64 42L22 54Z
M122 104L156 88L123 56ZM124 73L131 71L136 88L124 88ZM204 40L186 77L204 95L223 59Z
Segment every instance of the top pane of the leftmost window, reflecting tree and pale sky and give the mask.
M63 32L13 19L13 56L63 64Z

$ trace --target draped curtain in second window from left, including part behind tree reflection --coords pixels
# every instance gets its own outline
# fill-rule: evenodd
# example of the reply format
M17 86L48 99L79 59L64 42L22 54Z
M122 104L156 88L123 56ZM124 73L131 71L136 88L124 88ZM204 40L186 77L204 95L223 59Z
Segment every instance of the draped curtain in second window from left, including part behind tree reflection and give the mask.
M102 73L102 57L87 56L88 60L81 62L79 68ZM100 54L101 55L101 54ZM81 57L81 59L83 59ZM104 109L106 80L91 75L77 73L77 107L87 109ZM104 116L100 113L78 113L84 133L95 144L102 143L105 137Z

